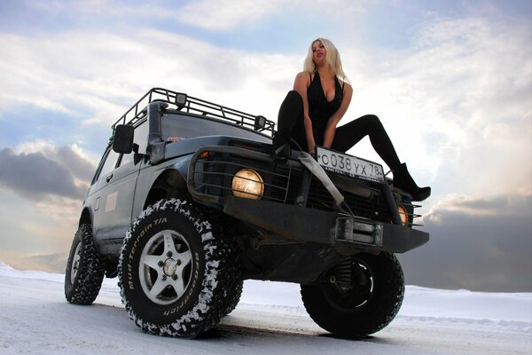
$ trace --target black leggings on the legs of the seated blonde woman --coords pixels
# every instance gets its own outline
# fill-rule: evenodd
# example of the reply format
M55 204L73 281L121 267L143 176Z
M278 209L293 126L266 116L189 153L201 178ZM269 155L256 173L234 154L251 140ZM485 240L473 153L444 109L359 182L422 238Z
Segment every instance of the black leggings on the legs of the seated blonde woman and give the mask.
M278 131L273 138L273 146L275 148L282 146L290 142L292 138L302 149L307 150L309 146L303 120L303 100L301 95L297 91L289 91L279 108ZM321 132L322 137L314 137L317 144L323 142L324 133ZM374 114L366 114L355 121L337 127L331 148L345 153L365 136L369 136L373 149L387 163L390 169L395 170L401 165L392 141L388 137L379 117Z

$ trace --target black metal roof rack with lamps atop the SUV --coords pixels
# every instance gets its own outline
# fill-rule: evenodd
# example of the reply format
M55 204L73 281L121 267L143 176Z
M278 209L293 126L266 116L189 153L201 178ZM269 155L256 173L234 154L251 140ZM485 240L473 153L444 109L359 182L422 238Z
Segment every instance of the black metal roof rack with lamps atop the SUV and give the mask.
M144 117L146 107L153 101L165 102L170 108L174 108L177 111L200 114L225 122L231 122L247 129L260 131L270 135L270 137L275 132L275 122L267 120L262 115L254 116L253 114L246 114L245 112L230 107L193 98L183 92L170 91L163 88L152 88L146 92L118 121L114 122L112 126L113 131L117 124L134 124Z

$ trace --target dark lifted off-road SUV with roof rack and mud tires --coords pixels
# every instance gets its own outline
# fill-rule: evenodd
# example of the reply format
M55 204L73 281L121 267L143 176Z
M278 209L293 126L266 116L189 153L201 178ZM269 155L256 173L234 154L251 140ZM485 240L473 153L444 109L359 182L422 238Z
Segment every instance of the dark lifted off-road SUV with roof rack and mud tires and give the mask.
M317 147L274 152L274 122L154 88L113 125L66 265L68 302L91 304L118 276L145 332L193 337L239 302L243 280L301 284L334 335L386 327L403 301L395 253L411 196L377 163Z

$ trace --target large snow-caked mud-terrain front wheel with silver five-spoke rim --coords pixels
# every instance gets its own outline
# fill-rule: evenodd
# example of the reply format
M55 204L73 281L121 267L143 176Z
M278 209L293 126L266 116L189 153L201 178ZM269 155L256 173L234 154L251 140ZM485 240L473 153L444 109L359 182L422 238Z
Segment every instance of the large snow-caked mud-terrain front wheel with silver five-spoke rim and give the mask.
M143 331L194 337L230 312L241 280L239 253L208 215L188 201L161 200L129 229L119 287L129 318Z

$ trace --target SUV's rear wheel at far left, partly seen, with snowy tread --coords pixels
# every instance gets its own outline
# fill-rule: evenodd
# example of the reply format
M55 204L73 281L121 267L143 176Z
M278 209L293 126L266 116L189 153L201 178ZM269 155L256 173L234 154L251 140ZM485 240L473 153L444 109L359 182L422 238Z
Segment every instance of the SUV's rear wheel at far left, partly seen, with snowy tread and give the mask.
M105 274L105 262L94 246L91 225L80 225L66 263L66 300L71 304L92 304L102 287Z

